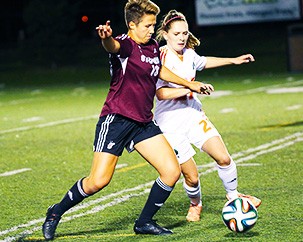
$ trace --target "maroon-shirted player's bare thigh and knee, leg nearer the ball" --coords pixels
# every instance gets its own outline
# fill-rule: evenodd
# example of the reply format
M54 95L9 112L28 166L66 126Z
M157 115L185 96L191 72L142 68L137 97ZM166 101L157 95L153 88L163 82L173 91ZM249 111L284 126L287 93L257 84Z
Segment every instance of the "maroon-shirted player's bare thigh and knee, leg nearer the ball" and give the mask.
M161 176L173 178L180 175L176 155L163 134L145 139L137 143L134 148L155 167Z

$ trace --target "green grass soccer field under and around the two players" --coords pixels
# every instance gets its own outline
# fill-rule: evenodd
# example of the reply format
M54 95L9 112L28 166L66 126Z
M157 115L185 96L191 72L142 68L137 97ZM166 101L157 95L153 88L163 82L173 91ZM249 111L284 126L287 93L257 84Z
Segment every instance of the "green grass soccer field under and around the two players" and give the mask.
M0 240L42 241L47 207L88 175L95 124L108 90L107 72L0 74ZM189 202L179 182L155 217L174 234L135 235L133 222L157 173L137 153L125 152L111 184L65 214L56 240L303 240L303 75L199 77L216 89L202 102L238 164L239 191L262 199L255 227L235 234L224 226L225 191L213 161L197 153L201 221L186 222Z

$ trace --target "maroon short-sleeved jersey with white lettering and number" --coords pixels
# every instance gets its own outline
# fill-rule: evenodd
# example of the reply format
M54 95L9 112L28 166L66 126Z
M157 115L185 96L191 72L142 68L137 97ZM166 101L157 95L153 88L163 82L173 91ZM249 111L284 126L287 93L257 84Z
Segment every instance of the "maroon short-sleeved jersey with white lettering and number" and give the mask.
M149 122L161 65L159 45L154 39L137 44L126 34L115 39L121 47L110 54L111 83L100 116L116 113Z

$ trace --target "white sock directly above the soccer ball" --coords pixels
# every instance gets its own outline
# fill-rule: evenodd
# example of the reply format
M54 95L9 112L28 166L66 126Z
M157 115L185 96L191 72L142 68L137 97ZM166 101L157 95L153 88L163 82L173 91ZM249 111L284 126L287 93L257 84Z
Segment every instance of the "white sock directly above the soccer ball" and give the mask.
M229 199L238 197L238 175L236 163L231 159L228 166L217 165L217 167L219 177L223 182L223 186Z

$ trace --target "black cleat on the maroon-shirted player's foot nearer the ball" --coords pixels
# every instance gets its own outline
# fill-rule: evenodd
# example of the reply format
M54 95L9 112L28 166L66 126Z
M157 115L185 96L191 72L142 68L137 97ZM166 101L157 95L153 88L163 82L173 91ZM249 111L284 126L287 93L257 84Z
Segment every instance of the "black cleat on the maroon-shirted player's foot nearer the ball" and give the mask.
M154 220L146 222L142 226L138 226L137 223L138 220L136 220L134 226L134 231L136 234L170 235L173 233L171 230L158 225Z

